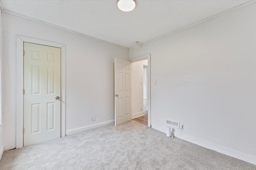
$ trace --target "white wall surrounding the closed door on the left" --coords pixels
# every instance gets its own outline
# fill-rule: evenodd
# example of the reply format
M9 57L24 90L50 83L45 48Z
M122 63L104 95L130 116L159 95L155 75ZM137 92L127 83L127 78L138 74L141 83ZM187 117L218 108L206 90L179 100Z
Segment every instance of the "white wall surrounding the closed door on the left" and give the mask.
M16 36L66 45L66 130L114 120L114 57L128 60L129 50L2 13L3 136L5 150L16 147ZM92 115L96 121L92 121Z

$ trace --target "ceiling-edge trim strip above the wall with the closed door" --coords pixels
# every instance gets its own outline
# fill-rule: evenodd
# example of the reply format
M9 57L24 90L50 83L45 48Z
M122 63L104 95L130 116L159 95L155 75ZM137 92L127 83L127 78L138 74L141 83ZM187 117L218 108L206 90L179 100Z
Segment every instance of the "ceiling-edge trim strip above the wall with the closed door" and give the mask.
M38 20L38 19L35 19L35 18L32 18L32 17L28 17L28 16L24 16L22 14L18 14L16 12L12 12L12 11L9 11L9 10L3 10L3 12L6 12L8 14L12 14L14 16L18 16L18 17L22 17L22 18L26 18L28 20L32 20L32 21L36 21L36 22L39 22L39 23L44 23L46 25L50 25L52 27L55 27L55 28L58 28L58 29L62 29L62 30L65 30L65 31L68 31L68 32L71 32L71 33L74 33L74 34L77 34L77 35L81 35L82 37L86 37L86 38L90 38L90 39L94 39L96 41L100 41L100 42L103 42L103 43L107 43L107 44L110 44L110 45L114 45L114 46L117 46L117 47L122 47L124 49L129 49L128 47L124 47L122 45L117 45L117 44L114 44L114 43L110 43L108 41L104 41L102 39L98 39L98 38L95 38L95 37L91 37L89 35L85 35L85 34L82 34L82 33L79 33L79 32L76 32L76 31L72 31L70 29L67 29L67 28L64 28L64 27L61 27L61 26L58 26L58 25L54 25L52 23L48 23L48 22L45 22L45 21L42 21L42 20Z

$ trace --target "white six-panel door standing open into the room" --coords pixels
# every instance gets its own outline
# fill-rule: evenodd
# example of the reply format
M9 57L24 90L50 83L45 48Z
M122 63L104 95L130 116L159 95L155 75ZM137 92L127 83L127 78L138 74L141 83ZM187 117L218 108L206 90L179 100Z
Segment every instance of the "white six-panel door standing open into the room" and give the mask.
M131 62L115 58L115 126L132 118Z

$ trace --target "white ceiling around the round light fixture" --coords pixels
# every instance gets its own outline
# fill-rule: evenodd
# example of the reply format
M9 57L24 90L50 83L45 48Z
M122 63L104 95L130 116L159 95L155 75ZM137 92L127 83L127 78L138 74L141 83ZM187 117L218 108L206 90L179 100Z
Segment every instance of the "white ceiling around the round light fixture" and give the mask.
M144 43L248 0L136 0L132 12L116 0L1 0L4 10L124 47Z

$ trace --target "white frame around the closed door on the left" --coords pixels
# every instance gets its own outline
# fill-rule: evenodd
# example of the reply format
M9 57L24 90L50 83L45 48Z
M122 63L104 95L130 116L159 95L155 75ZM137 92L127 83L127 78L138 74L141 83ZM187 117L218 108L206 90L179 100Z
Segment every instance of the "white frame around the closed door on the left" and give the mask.
M66 45L17 35L16 49L16 148L23 147L23 49L25 43L58 47L61 49L61 104L60 137L66 135Z

